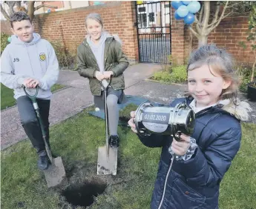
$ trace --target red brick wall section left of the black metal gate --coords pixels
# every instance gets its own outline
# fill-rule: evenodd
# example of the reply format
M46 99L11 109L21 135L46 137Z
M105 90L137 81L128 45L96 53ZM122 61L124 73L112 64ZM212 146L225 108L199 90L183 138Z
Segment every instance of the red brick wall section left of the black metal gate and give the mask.
M138 60L133 1L111 1L108 4L40 14L33 22L36 32L43 38L50 41L59 40L68 50L75 52L77 46L85 38L85 16L89 13L99 13L102 16L105 30L118 34L122 40L122 48L128 59L131 62Z

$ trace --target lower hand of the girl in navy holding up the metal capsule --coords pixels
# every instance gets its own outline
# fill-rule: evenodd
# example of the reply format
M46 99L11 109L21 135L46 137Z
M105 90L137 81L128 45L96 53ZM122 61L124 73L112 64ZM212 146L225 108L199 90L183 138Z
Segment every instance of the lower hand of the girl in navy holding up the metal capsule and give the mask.
M189 147L190 147L190 138L189 136L186 136L185 134L181 134L180 136L181 141L177 142L174 138L171 143L171 150L174 151L177 156L183 156L187 153Z

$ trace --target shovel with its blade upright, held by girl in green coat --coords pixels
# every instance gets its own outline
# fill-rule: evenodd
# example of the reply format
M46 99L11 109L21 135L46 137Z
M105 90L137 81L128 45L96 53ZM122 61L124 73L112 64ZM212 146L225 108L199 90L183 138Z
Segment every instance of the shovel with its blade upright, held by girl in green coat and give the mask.
M117 149L109 147L108 145L108 107L107 107L108 84L109 83L105 79L103 79L101 82L101 85L104 90L106 145L104 147L99 147L98 149L97 175L112 174L116 176Z

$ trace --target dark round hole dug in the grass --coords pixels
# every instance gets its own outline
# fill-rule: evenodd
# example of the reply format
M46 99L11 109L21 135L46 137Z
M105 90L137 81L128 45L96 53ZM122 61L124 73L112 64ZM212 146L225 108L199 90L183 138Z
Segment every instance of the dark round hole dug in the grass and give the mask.
M68 203L74 206L89 206L94 202L94 197L103 193L107 185L101 180L84 182L80 186L70 186L62 192Z

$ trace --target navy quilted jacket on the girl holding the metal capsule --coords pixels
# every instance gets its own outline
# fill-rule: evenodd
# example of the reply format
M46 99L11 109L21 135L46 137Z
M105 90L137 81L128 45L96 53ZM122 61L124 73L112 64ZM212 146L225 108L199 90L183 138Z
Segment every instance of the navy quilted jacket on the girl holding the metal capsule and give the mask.
M176 99L171 107L180 102L188 105L191 100ZM196 113L191 137L198 145L194 155L188 161L174 160L169 173L171 154L168 147L172 137L155 134L139 137L145 146L163 147L151 199L152 209L218 208L220 182L240 147L240 120L220 106L209 107Z

